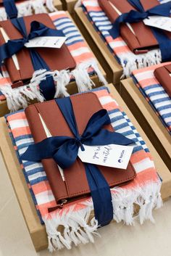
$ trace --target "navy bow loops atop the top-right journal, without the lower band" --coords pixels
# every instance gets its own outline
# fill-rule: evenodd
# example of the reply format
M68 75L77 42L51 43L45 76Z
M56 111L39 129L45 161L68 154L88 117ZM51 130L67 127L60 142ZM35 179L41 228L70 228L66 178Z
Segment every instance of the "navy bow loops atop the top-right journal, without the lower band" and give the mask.
M171 1L165 4L159 4L156 7L145 11L139 0L128 0L128 2L138 9L138 11L131 10L130 12L123 13L114 21L112 29L109 30L110 35L113 38L120 36L120 25L122 23L135 23L146 19L149 16L159 15L164 17L170 17Z

